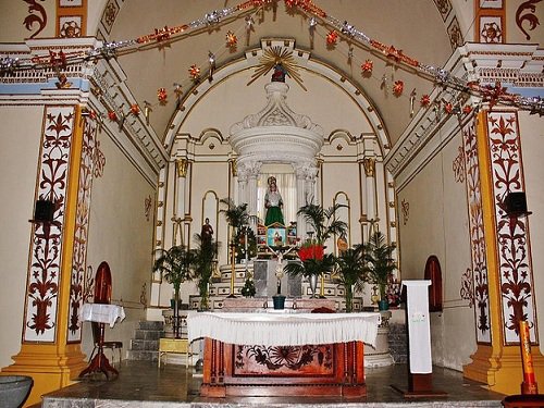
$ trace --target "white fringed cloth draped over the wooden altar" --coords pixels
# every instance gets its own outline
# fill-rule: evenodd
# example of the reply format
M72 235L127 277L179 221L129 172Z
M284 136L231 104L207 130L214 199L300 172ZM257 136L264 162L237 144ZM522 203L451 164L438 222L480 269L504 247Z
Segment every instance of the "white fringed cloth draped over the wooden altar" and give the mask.
M375 345L380 313L189 312L188 341L210 337L237 345L302 346L363 342Z

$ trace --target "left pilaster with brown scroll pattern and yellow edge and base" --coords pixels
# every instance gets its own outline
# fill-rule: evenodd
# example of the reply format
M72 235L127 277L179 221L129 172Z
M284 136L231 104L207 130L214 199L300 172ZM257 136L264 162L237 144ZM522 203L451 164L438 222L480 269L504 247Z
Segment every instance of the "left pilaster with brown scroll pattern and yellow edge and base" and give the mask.
M53 221L32 224L25 313L20 353L4 372L30 375L27 403L70 385L85 368L81 351L79 307L83 304L86 243L78 203L88 208L89 151L84 149L84 124L78 106L47 106L36 199L54 205ZM88 133L90 132L90 134ZM94 129L86 129L92 137ZM88 140L86 140L88 141ZM83 160L82 160L83 157ZM89 188L88 195L82 189ZM84 220L84 222L86 222Z

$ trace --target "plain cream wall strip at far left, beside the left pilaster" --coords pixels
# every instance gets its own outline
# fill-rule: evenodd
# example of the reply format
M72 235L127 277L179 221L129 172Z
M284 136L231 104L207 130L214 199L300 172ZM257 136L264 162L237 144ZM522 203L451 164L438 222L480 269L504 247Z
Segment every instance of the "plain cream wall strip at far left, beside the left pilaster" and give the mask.
M21 349L41 107L0 109L0 367ZM9 330L8 330L9 327Z

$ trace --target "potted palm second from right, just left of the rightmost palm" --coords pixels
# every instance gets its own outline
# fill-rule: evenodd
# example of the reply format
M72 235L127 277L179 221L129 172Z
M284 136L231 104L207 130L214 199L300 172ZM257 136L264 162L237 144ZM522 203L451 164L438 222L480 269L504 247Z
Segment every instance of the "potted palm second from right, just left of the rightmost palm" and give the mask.
M366 281L362 245L356 245L339 252L336 257L335 276L344 285L346 312L349 313L354 307L354 288L362 290Z

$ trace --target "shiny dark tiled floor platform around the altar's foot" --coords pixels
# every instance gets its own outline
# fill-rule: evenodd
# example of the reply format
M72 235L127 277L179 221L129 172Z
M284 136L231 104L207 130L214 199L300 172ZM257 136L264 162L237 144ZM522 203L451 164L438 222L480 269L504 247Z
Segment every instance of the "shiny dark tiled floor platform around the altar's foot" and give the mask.
M196 408L196 407L502 407L504 395L485 390L481 384L462 378L457 371L435 368L433 385L447 393L446 397L405 399L396 387L406 388L407 368L395 364L367 369L368 395L364 398L338 397L295 398L201 398L198 393L201 376L185 366L125 361L114 381L83 381L45 397L42 408Z

